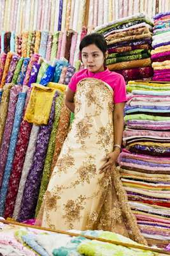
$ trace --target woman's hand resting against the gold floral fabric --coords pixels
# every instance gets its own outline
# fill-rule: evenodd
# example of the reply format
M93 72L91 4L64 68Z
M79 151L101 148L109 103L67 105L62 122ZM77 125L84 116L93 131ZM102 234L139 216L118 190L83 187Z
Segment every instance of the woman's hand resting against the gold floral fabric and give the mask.
M100 170L99 173L103 173L103 172L106 172L107 170L110 170L113 164L117 162L119 154L120 154L120 150L118 148L118 149L115 149L110 154L108 154L107 157L104 157L103 161L106 161L106 163L103 164L103 166L101 166L101 168L99 169Z

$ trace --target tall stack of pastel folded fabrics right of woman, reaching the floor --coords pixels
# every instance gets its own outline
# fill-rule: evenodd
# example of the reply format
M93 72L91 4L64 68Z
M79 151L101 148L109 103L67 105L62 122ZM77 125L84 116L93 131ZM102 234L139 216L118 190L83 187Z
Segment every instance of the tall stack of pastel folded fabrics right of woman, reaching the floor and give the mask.
M170 83L129 81L122 182L150 245L170 242Z

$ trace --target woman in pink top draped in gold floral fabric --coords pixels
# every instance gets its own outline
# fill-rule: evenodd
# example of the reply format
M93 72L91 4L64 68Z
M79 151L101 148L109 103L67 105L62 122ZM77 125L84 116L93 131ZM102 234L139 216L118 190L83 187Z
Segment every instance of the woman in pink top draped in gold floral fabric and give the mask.
M86 68L74 74L66 93L74 121L45 193L41 225L111 230L146 244L115 168L124 128L124 78L104 66L103 36L85 36L80 52Z

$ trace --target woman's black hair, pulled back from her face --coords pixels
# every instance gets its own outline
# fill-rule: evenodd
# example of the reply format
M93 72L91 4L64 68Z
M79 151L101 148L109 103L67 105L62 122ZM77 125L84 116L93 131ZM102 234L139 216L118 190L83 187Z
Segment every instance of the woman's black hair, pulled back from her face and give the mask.
M107 51L107 44L103 35L92 33L85 36L80 42L80 52L84 47L87 47L90 44L95 44L103 52L103 55L105 57L105 53Z

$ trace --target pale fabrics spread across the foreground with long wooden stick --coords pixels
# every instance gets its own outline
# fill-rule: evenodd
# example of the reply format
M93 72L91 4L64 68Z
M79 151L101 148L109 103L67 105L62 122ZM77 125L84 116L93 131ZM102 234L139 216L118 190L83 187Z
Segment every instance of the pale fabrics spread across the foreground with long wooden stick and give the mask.
M0 223L0 253L6 256L163 256L168 252L141 246L131 239L103 230L52 232L13 221Z

